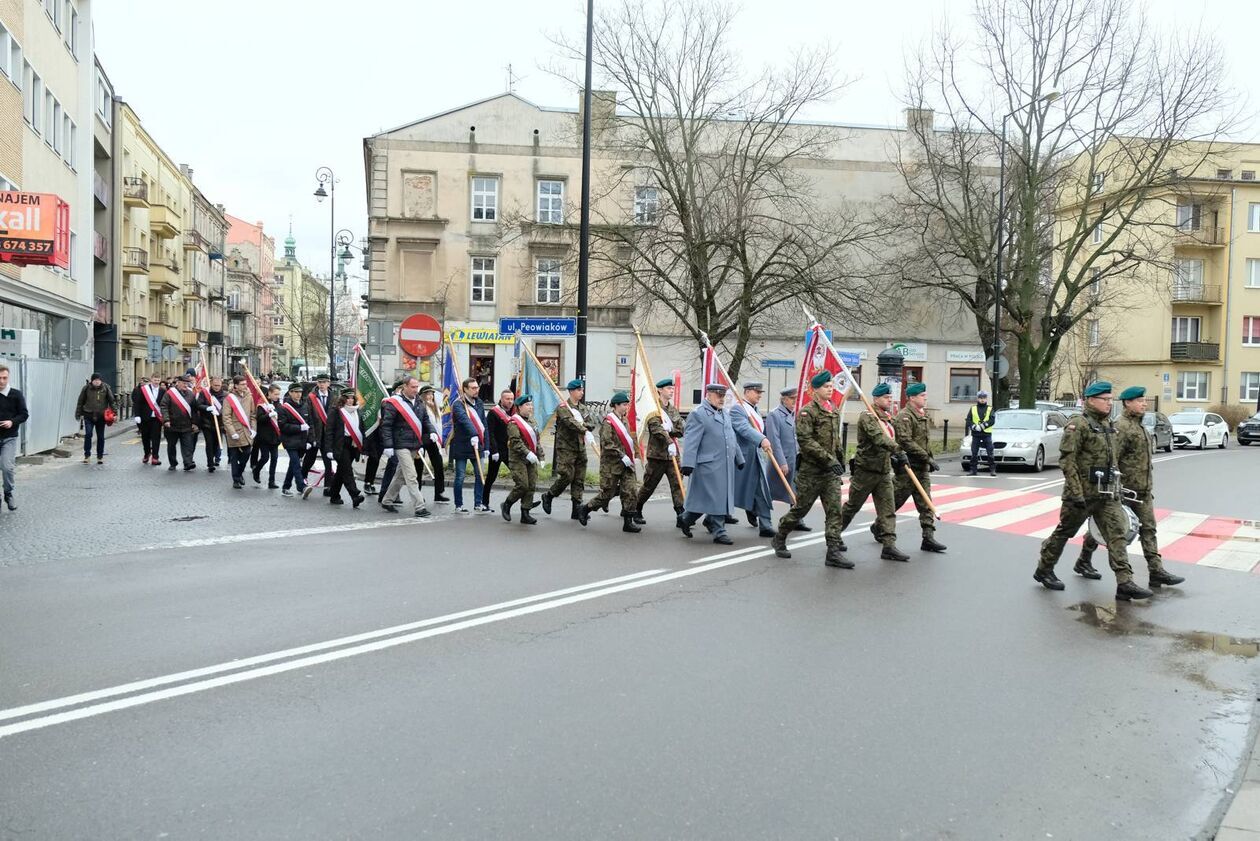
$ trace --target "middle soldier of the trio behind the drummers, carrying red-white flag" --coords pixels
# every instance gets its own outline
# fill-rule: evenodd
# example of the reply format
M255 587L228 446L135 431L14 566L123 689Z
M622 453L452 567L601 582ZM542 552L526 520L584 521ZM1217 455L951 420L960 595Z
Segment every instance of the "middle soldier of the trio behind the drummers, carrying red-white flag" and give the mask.
M871 497L874 499L876 528L883 543L879 557L886 561L908 561L910 556L897 548L897 508L893 506L892 490L892 470L901 470L908 461L888 420L888 410L892 407L888 383L881 382L871 390L871 402L878 415L864 411L858 416L858 451L853 458L853 479L849 482L849 498L844 503L840 531L849 527L867 497ZM843 540L839 547L844 551Z

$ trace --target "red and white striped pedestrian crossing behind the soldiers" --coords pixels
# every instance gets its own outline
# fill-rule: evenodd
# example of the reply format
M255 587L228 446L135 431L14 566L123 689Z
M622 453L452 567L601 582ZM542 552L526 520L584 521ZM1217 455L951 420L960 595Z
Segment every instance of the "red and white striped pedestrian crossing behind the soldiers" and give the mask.
M932 499L942 522L968 528L1043 540L1058 522L1060 497L1045 490L935 485ZM867 502L863 511L873 511L872 504ZM905 516L914 511L914 502L907 502L898 513ZM1155 508L1155 521L1159 551L1166 561L1260 575L1260 521L1168 508ZM1072 542L1080 543L1084 531ZM1142 557L1138 541L1129 547L1129 555Z

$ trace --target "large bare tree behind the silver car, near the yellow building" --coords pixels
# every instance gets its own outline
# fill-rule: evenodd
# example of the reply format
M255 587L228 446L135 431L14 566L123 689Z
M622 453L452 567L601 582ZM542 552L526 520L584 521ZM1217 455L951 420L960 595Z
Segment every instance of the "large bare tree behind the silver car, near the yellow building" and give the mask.
M922 116L898 154L891 218L911 245L895 262L907 285L961 301L992 348L1000 248L1021 406L1076 324L1168 265L1167 203L1235 121L1220 54L1202 33L1159 37L1129 0L976 0L970 42L946 26L912 59L907 105ZM1113 294L1087 294L1100 282ZM994 386L1007 405L1012 378Z

